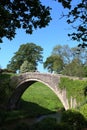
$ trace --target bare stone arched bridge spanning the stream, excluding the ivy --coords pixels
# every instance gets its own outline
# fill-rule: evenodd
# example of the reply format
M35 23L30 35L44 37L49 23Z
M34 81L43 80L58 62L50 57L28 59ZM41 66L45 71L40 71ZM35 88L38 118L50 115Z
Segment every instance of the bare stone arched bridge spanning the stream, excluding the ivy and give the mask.
M61 90L58 87L62 75L57 74L45 74L39 72L26 72L20 75L14 76L11 79L10 85L15 88L12 96L8 102L9 109L15 109L17 103L24 93L24 91L33 83L39 81L47 85L60 99L64 108L69 109L68 99L66 97L66 90Z

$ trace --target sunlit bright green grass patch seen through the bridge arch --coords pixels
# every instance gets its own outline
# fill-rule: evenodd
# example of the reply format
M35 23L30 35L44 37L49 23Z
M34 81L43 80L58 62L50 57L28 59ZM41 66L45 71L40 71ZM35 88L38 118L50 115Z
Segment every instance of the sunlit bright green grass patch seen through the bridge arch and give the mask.
M51 111L57 111L60 107L63 107L54 92L41 82L31 85L22 95L22 99L36 103Z

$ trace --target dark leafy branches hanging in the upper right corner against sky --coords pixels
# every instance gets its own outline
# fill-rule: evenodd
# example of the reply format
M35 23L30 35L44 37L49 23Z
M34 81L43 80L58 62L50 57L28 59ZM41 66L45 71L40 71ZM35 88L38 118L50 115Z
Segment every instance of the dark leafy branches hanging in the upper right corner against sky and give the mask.
M76 2L74 6L73 0L58 0L62 3L64 8L68 8L67 14L63 14L63 17L67 17L67 23L71 24L74 32L68 34L73 40L78 41L79 46L87 46L87 0L80 0Z

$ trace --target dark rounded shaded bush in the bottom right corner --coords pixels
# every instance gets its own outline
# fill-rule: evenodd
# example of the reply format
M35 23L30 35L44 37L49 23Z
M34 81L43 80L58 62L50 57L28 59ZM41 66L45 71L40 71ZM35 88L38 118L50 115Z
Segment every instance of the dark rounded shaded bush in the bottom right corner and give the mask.
M75 130L87 127L86 119L77 111L68 110L63 112L61 121L70 125Z

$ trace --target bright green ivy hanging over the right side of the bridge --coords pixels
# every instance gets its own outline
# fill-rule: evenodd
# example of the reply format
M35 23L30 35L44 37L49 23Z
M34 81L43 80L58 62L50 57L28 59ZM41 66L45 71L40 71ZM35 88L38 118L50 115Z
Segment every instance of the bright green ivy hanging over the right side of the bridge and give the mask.
M60 88L66 88L68 99L71 99L71 96L73 98L76 98L77 105L82 104L86 98L84 96L84 88L87 85L86 80L74 80L69 79L67 77L62 77L60 79Z

